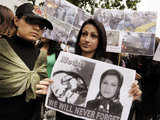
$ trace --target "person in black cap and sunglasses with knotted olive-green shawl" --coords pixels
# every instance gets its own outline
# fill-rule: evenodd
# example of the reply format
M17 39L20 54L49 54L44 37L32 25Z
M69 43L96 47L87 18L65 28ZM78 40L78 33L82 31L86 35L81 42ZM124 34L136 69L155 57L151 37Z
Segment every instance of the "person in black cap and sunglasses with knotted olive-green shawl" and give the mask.
M0 39L0 120L40 120L41 98L35 90L47 78L46 52L33 43L52 24L33 9L31 3L20 5L14 17L16 34Z

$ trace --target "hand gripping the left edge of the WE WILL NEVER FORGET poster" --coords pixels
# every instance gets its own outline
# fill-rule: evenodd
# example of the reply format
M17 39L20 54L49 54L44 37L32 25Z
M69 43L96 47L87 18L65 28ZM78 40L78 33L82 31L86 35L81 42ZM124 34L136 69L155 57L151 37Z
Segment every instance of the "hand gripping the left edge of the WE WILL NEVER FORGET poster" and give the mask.
M36 85L36 94L46 95L48 91L48 86L53 82L53 80L49 78L45 78Z

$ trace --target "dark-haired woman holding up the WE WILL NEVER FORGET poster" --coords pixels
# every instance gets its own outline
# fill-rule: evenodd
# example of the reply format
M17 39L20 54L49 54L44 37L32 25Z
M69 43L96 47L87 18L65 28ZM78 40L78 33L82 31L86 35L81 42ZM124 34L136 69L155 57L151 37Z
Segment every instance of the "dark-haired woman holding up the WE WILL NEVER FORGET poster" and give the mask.
M107 36L103 24L101 24L96 19L88 19L85 21L79 31L75 53L84 57L106 61L108 63L113 63L110 59L105 58L105 48L107 42ZM46 94L48 87L45 84L40 84L41 90L37 93ZM47 84L48 85L48 84ZM38 87L40 88L40 87ZM134 99L141 96L141 90L136 83L133 83L130 95ZM64 115L57 112L56 120L79 120L78 118Z

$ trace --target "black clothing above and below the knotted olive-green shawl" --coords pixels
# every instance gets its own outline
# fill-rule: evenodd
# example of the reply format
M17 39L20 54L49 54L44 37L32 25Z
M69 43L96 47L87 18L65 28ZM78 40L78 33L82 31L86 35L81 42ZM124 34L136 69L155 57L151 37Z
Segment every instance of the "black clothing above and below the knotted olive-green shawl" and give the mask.
M40 50L29 41L17 36L5 37L15 53L32 70ZM0 120L40 120L40 99L25 101L25 92L22 95L0 98Z

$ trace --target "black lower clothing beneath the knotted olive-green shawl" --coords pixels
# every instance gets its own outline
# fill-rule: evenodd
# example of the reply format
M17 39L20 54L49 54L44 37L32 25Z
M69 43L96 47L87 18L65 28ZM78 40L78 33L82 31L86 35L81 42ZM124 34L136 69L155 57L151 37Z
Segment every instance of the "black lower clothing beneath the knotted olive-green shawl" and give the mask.
M0 98L0 120L40 120L41 100L25 102L25 94Z

